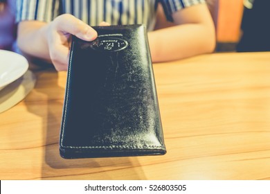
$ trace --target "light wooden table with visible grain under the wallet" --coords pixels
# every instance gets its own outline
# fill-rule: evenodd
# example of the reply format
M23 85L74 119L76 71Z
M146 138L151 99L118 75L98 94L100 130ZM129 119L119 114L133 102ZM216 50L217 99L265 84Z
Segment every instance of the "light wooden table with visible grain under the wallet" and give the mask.
M62 159L66 72L35 73L0 114L0 179L270 179L270 53L154 64L164 156Z

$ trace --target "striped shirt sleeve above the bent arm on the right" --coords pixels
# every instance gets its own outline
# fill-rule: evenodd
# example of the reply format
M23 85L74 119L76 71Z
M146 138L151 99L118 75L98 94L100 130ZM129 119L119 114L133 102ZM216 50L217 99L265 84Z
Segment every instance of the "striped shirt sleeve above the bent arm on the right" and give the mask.
M159 0L168 21L173 21L172 14L183 8L205 3L205 0Z

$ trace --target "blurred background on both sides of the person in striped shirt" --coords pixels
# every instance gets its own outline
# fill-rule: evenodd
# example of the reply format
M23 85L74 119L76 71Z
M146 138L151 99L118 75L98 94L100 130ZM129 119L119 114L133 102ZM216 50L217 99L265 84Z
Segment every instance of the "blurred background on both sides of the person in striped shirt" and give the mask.
M217 33L217 52L270 51L270 0L206 0ZM16 0L0 0L0 49L17 50ZM17 52L19 52L17 50Z

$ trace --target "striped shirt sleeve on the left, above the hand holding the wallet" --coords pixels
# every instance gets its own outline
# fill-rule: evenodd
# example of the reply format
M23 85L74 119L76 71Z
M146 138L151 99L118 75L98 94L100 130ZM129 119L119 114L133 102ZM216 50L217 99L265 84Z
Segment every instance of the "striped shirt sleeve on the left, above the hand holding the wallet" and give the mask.
M16 21L52 21L60 15L60 0L17 0Z

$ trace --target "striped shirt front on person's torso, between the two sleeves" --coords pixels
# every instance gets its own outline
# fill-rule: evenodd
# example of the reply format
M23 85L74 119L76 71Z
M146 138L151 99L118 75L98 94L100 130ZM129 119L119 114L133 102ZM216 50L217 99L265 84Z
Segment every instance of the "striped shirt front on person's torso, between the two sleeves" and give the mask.
M67 0L61 1L63 13L78 17L90 26L101 21L111 25L144 24L154 28L156 0Z

